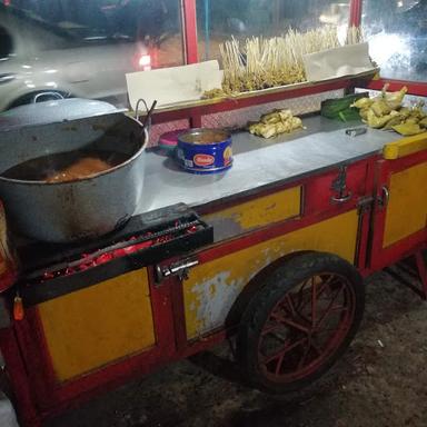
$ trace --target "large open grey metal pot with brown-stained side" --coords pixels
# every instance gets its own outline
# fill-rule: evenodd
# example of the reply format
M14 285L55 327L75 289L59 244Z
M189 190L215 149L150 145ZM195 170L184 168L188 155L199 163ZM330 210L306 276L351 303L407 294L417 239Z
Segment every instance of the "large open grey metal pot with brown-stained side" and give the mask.
M121 112L1 132L0 199L11 228L37 240L70 242L120 227L142 197L147 142L141 125ZM27 160L88 146L126 155L127 159L70 182L1 177Z

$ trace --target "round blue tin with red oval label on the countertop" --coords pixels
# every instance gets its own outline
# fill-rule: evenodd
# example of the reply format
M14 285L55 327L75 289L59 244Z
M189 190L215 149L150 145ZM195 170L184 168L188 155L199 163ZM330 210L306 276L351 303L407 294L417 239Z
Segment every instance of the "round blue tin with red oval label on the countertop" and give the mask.
M231 136L219 129L190 129L178 137L177 159L191 173L218 173L232 166Z

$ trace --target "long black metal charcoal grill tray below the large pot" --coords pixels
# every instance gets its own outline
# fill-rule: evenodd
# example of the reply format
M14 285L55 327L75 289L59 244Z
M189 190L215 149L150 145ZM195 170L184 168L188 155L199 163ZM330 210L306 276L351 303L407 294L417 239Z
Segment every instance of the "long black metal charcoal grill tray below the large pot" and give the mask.
M197 226L198 229L195 232L188 234L185 231L188 226ZM148 232L149 236L146 236ZM156 239L168 234L172 234L173 238L171 240L115 258L83 271L77 271L68 276L58 276L46 281L40 280L43 271L58 271L67 265L81 259L83 254L109 252L121 247L135 245L138 241ZM137 236L136 240L126 241L135 236ZM197 214L186 205L178 203L133 217L123 229L95 241L66 246L34 242L20 248L20 259L27 268L17 286L24 305L31 306L163 259L185 255L212 241L214 228L201 221Z

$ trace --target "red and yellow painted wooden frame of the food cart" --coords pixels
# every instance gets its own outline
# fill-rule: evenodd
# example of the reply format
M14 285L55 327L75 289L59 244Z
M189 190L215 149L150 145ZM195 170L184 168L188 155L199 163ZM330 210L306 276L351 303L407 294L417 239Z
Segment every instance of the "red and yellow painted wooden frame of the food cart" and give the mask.
M183 0L182 6L186 58L191 63L198 60L196 0ZM352 0L351 23L357 24L360 14L361 1ZM374 81L367 86L377 89L383 83ZM400 88L403 82L391 83ZM427 96L426 83L405 83L411 93ZM350 90L363 85L365 82L347 79L237 101L192 106L160 112L155 122L189 118L192 126L200 126L201 117L207 113L334 89ZM0 348L22 425L41 425L44 418L100 390L234 335L241 316L238 302L248 305L271 271L307 252L335 254L364 277L415 256L425 298L427 274L421 251L427 242L427 195L424 189L420 191L419 183L426 181L426 170L427 138L409 138L386 147L383 156L370 156L282 186L260 189L244 198L209 205L199 211L203 219L235 221L238 217L239 229L191 254L199 265L189 270L188 280L175 276L159 282L155 267L178 261L185 266L186 259L170 259L161 266L122 275L116 281L100 282L32 306L26 310L22 321L2 319ZM397 201L396 193L399 195ZM403 205L406 210L401 210ZM267 247L275 255L269 254L264 262L255 265L254 259L267 252ZM203 278L210 275L221 280L218 274L222 270L218 265L230 266L229 272L236 275L236 279L245 270L244 280L232 294L241 298L227 306L227 319L222 318L219 324L217 311L208 309L208 316L198 317L195 309L200 302L197 298L207 295L206 288L198 288L209 281ZM137 296L135 284L138 284ZM215 286L210 290L218 291ZM131 315L129 306L122 308L128 304L129 292L136 301L130 305ZM2 297L1 304L7 312L10 297ZM97 332L99 336L93 339L91 326L99 322L99 314L93 309L100 304L111 308L110 324L103 325L102 332ZM76 324L78 318L87 321L87 328ZM58 325L61 327L57 328ZM121 327L108 341L107 337L115 335L113 325ZM129 334L140 325L143 327L139 335ZM70 351L63 342L69 342ZM75 357L72 364L70 354ZM85 354L90 355L89 360L85 357L77 360Z

